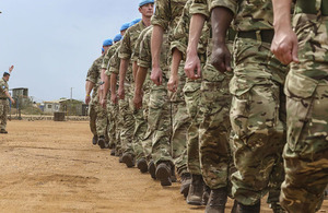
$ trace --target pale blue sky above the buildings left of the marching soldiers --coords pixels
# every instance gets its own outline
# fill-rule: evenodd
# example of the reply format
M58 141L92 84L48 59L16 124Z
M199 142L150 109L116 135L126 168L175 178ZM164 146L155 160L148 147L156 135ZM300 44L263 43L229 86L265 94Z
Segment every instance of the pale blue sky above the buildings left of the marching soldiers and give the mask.
M103 40L141 17L139 0L2 0L0 74L9 87L27 87L34 102L84 100L85 78Z

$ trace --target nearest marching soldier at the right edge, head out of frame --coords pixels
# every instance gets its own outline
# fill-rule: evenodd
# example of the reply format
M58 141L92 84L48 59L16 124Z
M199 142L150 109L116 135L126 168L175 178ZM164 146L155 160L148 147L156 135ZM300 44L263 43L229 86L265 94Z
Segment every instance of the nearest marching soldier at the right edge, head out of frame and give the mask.
M273 0L271 50L286 76L288 143L283 151L285 179L281 205L288 212L314 213L328 184L328 2ZM298 40L297 40L298 39Z

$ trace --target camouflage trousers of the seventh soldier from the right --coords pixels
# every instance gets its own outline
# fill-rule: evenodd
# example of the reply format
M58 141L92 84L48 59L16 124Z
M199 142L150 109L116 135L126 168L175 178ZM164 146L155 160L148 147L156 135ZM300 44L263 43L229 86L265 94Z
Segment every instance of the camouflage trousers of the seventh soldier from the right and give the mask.
M119 119L120 128L120 142L122 153L129 153L134 156L132 141L134 131L133 106L131 105L132 95L130 90L126 90L125 99L119 99Z

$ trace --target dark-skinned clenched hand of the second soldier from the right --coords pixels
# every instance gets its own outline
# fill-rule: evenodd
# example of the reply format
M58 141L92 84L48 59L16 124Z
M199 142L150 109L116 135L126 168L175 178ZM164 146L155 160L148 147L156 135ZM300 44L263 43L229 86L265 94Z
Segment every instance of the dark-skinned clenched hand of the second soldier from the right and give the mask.
M211 64L220 72L232 71L231 52L225 43L213 45Z

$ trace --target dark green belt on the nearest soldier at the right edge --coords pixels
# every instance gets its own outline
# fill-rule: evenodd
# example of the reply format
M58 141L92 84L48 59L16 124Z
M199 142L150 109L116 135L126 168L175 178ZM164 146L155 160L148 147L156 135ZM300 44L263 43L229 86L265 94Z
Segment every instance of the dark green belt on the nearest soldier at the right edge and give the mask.
M306 14L318 14L318 9L316 9L315 0L297 0L295 5L296 13L306 13ZM321 15L328 16L328 2L327 0L321 1L320 9Z

